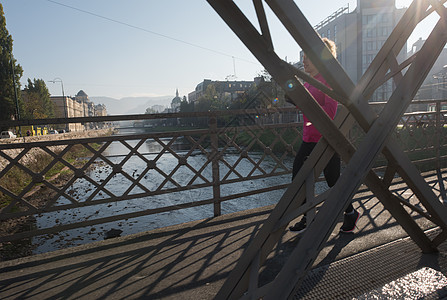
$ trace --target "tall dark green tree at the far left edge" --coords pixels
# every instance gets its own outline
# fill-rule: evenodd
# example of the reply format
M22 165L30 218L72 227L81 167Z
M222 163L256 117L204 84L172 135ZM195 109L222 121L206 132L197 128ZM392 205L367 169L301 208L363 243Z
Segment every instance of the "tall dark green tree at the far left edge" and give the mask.
M0 120L3 121L11 120L13 116L18 117L16 104L21 102L19 82L23 70L12 56L12 42L12 37L6 29L3 5L0 3ZM18 104L20 111L21 103Z

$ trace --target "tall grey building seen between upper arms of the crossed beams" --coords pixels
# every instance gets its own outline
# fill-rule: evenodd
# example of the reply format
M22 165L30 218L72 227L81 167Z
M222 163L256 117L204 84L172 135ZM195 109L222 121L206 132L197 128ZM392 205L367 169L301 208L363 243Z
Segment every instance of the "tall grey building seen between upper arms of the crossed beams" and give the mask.
M405 11L396 8L395 0L357 0L354 11L349 12L349 6L340 8L315 29L335 42L338 61L357 83ZM406 45L397 59L402 62L405 58ZM375 91L371 101L387 101L392 91L390 80Z

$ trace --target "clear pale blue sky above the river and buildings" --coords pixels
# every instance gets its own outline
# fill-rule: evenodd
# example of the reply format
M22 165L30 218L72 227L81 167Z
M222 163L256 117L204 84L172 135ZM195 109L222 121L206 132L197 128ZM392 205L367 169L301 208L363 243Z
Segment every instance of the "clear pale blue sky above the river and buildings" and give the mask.
M251 0L235 1L252 19ZM251 81L264 68L205 0L0 0L22 88L43 79L50 94L89 97L187 96L204 79ZM315 26L356 0L296 0ZM408 7L411 0L396 0ZM276 53L299 46L265 5ZM254 24L257 24L256 22ZM257 26L257 25L256 25ZM409 42L426 38L424 28ZM55 80L51 83L51 80ZM62 84L61 84L62 81Z

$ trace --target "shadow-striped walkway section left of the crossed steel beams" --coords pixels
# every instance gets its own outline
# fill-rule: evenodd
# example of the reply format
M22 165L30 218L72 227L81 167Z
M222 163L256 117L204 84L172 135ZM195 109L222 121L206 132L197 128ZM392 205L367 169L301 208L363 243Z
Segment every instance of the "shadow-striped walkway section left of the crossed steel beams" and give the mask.
M270 209L4 262L0 296L158 299L207 285L210 296Z

